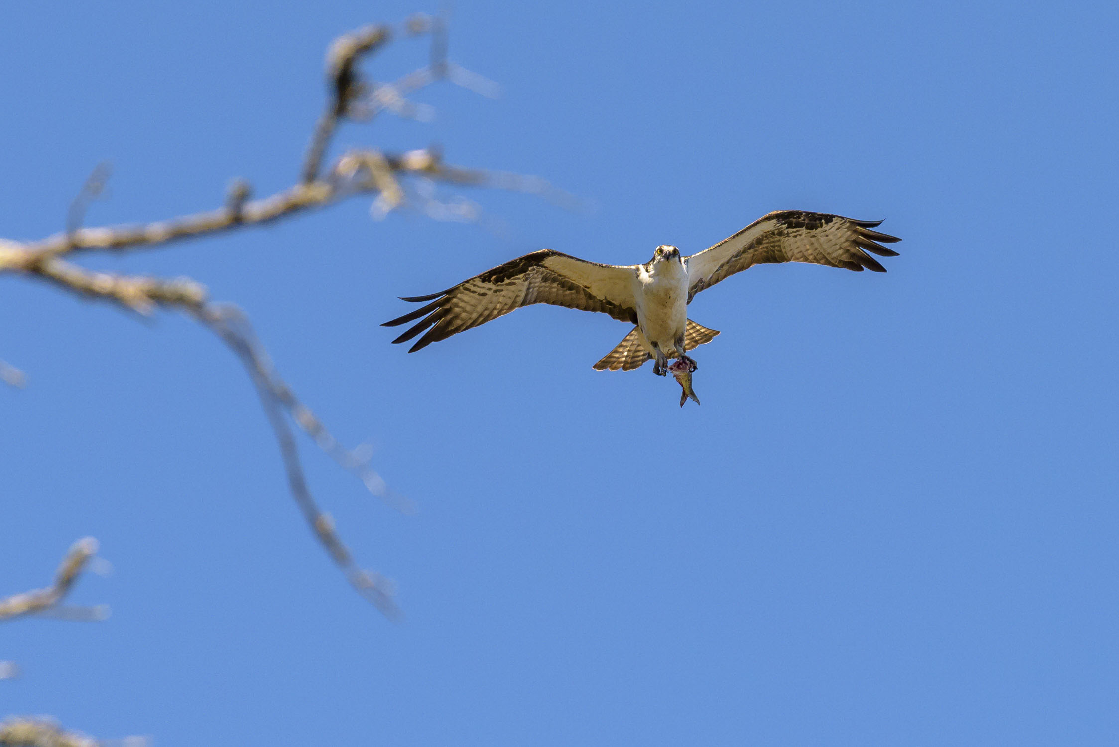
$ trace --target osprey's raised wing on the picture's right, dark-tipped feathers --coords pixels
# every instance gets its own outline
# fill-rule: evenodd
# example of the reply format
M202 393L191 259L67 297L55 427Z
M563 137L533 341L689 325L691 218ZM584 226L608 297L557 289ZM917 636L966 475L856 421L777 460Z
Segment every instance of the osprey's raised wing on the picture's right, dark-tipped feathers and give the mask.
M734 236L687 258L688 302L721 280L767 263L808 262L855 272L866 267L884 273L886 268L866 252L896 257L896 252L878 242L892 244L901 239L872 230L881 223L803 210L770 212Z

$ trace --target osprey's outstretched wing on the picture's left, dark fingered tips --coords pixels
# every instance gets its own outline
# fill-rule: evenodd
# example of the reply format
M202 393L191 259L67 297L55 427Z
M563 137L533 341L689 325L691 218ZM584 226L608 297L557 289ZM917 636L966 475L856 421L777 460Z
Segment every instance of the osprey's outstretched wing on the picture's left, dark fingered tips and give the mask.
M382 327L396 327L419 319L415 325L393 340L405 342L427 330L408 349L408 352L414 352L436 340L445 340L457 332L534 303L601 311L637 324L634 272L633 267L600 265L542 249L487 270L442 293L401 299L431 303Z

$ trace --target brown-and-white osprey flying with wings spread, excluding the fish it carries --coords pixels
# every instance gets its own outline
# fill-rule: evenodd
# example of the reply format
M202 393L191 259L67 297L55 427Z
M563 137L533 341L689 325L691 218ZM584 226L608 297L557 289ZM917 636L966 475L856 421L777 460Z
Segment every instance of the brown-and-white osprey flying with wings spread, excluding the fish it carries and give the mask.
M891 244L901 239L873 230L881 223L825 212L778 210L690 257L683 257L678 248L662 244L652 259L628 267L600 265L542 249L440 293L402 297L402 301L427 303L383 327L420 320L393 340L405 342L426 330L408 349L414 352L514 309L551 303L601 311L634 325L594 365L598 370L628 371L650 358L658 376L665 376L671 358L695 370L695 361L687 351L718 334L717 330L688 319L687 305L696 293L758 264L807 262L884 273L886 268L866 252L895 257L897 253L880 242Z

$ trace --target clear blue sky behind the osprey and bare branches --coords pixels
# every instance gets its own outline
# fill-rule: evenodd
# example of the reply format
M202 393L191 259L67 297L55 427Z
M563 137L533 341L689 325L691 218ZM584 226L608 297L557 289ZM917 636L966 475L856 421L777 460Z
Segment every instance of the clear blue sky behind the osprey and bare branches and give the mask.
M0 10L0 235L290 185L336 35L401 2ZM241 304L280 371L419 505L303 442L406 618L301 523L235 359L0 278L0 594L92 535L100 624L2 628L0 715L208 744L1115 744L1119 717L1113 3L460 2L490 101L337 145L440 144L593 204L464 192L482 225L352 202L128 257ZM425 59L401 41L368 67ZM444 192L446 197L453 190ZM645 262L772 209L885 218L888 274L762 266L697 297L702 407L627 332L535 306L422 352L396 300L551 247Z

